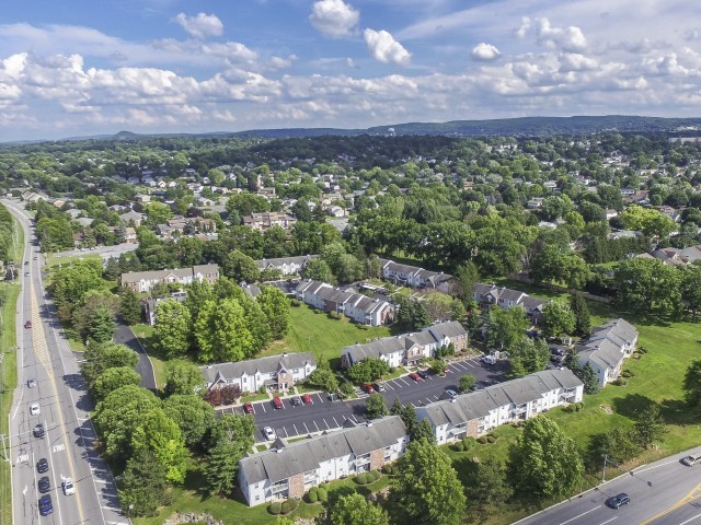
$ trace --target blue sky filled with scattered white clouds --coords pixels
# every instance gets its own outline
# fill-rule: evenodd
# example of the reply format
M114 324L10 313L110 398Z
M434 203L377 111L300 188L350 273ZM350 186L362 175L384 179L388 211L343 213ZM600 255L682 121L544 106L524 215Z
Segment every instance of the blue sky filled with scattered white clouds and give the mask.
M25 0L0 140L701 117L692 0Z

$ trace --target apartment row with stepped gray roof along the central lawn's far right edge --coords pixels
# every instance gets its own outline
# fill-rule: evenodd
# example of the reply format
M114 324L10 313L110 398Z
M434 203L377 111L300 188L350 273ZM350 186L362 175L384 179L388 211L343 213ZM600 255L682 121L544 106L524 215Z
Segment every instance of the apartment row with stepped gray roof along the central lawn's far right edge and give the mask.
M314 308L344 314L361 325L380 326L394 319L394 305L387 301L311 279L300 281L295 289L295 298Z

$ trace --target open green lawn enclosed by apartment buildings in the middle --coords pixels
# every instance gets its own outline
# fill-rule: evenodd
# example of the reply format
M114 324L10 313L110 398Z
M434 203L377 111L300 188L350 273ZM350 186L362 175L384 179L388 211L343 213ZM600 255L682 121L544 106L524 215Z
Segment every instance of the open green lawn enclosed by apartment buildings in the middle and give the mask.
M312 352L317 362L329 360L332 369L341 368L341 350L355 342L366 342L391 335L388 326L361 328L347 318L332 319L307 305L290 308L290 327L280 341L265 349L261 357L283 352Z

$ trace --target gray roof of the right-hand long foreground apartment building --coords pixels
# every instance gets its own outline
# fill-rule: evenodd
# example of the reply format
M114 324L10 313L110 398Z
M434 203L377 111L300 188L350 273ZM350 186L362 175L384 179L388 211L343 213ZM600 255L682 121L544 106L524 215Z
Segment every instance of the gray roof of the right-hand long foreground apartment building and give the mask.
M575 388L582 384L570 369L544 370L482 390L461 394L455 400L432 402L420 410L427 413L434 425L456 425L484 418L498 407L524 405L553 389Z

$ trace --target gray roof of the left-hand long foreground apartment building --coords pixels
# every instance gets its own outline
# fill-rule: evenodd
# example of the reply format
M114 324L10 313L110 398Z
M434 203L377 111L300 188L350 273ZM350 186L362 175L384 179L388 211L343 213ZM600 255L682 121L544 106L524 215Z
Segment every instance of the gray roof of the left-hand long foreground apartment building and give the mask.
M281 481L319 468L320 463L348 455L361 456L397 443L406 436L406 427L399 416L377 419L371 423L344 428L338 432L291 443L284 448L268 450L243 457L239 468L249 483L268 479Z

